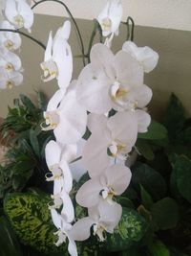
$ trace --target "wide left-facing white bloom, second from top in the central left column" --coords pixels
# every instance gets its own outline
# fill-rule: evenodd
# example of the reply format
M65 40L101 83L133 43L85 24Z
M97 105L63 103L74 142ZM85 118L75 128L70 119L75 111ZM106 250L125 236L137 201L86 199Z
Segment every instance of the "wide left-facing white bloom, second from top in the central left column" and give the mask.
M74 81L66 94L62 89L55 92L44 112L47 127L43 129L53 129L56 141L61 144L76 143L86 130L87 113L75 94Z

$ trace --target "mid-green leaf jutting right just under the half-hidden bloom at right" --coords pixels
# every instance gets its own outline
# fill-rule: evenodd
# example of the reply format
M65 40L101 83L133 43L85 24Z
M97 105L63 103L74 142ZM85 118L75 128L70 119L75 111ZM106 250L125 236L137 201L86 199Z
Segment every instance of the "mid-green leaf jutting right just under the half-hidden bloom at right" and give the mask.
M167 136L166 128L156 121L151 122L151 125L149 126L147 132L138 133L139 139L147 139L147 140L161 140L166 138L166 136Z

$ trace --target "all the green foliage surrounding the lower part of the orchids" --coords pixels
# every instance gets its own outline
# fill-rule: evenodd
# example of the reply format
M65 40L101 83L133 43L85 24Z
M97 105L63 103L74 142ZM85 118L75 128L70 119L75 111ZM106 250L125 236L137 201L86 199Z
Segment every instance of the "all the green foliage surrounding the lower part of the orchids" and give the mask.
M55 227L47 207L52 188L44 182L44 146L53 134L40 130L39 109L42 107L21 96L1 127L4 143L10 147L9 161L0 167L0 193L4 198L0 237L6 255L67 255L64 246L57 249L53 245ZM79 255L191 255L191 120L184 112L179 99L172 95L163 124L152 122L148 132L138 134L141 154L131 167L130 186L117 198L123 207L121 221L104 243L94 235L77 243ZM89 176L83 175L74 182L73 199L87 179ZM29 192L32 186L41 191L35 188ZM76 220L86 216L86 209L74 205ZM12 246L3 246L10 240L15 254Z

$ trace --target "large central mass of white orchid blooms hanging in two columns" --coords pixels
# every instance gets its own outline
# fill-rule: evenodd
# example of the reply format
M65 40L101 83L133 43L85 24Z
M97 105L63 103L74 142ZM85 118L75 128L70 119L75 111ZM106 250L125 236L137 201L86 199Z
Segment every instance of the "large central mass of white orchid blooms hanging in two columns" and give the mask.
M120 221L122 207L117 203L131 181L126 160L135 151L138 132L146 132L151 117L147 105L152 90L144 84L144 72L152 71L158 54L149 47L138 47L126 41L116 55L110 50L122 16L119 0L109 1L98 15L106 36L90 53L90 63L72 81L73 55L68 39L71 23L67 20L53 36L49 35L41 68L43 81L57 80L58 90L44 112L42 129L53 129L55 141L46 146L46 161L53 181L49 204L57 228L56 245L68 241L68 250L77 255L75 241L93 235L100 242L113 233ZM107 37L110 36L110 37ZM113 114L111 114L113 113ZM82 137L91 131L87 141ZM83 145L83 147L82 147ZM74 161L82 159L76 170ZM70 197L73 179L86 173L90 179L76 193L76 202L87 208L88 216L74 217ZM77 172L80 171L80 175Z

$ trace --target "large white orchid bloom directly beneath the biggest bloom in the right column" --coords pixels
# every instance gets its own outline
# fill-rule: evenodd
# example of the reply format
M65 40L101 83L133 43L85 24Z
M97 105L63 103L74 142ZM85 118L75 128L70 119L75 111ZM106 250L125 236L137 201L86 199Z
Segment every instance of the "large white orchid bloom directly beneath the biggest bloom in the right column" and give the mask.
M125 160L132 151L137 136L138 122L132 111L118 112L111 118L90 114L88 128L92 131L82 161L90 176L99 175L114 160Z

